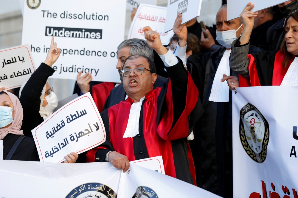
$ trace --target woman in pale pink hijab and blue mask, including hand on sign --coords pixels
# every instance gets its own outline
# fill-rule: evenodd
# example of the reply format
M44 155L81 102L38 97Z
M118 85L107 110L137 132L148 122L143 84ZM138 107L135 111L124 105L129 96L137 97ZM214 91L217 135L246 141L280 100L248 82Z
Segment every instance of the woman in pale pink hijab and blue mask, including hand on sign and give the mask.
M12 93L0 91L0 160L39 161L34 139L21 130L23 108ZM75 163L78 155L64 157L64 163Z

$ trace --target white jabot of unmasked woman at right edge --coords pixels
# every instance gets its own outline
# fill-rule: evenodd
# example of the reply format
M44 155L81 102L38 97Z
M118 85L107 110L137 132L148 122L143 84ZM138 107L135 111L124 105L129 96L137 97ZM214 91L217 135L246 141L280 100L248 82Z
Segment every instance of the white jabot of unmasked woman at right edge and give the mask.
M298 57L291 63L280 86L298 86Z

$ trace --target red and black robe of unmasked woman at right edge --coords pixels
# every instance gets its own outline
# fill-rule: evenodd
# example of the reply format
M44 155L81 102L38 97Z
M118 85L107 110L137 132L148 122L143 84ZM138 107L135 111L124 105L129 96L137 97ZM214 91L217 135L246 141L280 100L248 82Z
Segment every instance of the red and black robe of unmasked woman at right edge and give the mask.
M293 55L286 68L282 65L285 56L281 50L249 54L248 58L249 78L239 74L240 87L279 86L295 56Z

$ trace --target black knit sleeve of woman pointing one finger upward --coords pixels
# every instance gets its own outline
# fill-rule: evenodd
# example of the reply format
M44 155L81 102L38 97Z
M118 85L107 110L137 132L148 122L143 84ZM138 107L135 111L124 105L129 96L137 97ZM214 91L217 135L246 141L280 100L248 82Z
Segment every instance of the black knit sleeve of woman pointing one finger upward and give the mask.
M24 111L23 130L25 136L32 137L31 130L37 127L44 119L39 114L40 96L47 79L55 70L48 65L41 65L32 73L21 92L20 102Z

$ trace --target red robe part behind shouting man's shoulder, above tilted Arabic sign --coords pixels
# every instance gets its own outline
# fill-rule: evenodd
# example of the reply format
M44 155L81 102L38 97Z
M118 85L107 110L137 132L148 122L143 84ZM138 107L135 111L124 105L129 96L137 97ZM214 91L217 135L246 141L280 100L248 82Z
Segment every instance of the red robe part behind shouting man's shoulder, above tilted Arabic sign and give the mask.
M114 83L103 82L92 87L92 98L99 112L103 111L105 100L110 95L111 90L115 87Z

